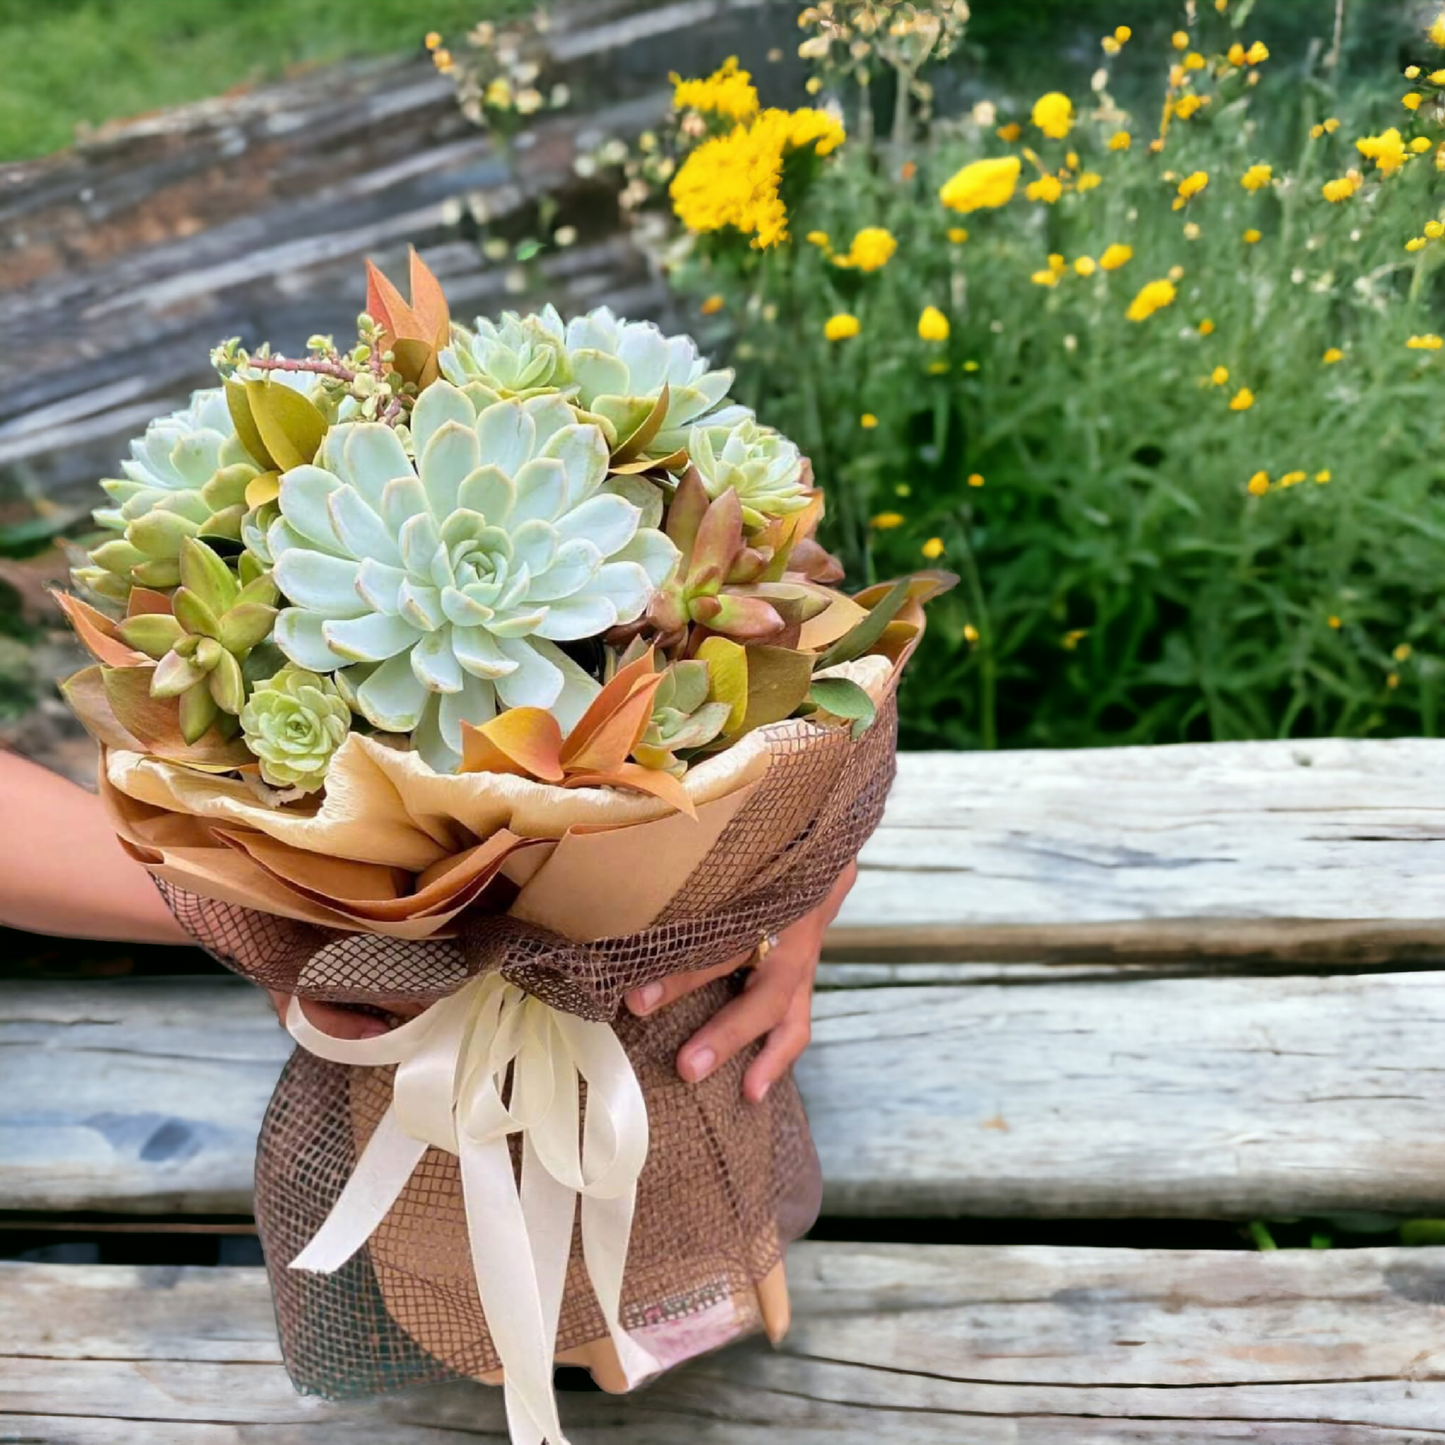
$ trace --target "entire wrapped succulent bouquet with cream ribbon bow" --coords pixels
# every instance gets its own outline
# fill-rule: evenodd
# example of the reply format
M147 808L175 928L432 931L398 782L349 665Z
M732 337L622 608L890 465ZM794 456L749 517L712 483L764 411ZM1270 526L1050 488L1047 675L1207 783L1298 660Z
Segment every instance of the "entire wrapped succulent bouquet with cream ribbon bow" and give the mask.
M796 1094L743 1110L737 1061L682 1097L692 1020L617 1006L827 893L952 579L837 591L799 449L605 308L461 327L413 254L345 350L214 360L103 483L65 691L204 946L293 1000L426 1006L347 1045L293 1003L257 1217L298 1383L500 1370L514 1436L561 1441L553 1353L627 1389L783 1314Z

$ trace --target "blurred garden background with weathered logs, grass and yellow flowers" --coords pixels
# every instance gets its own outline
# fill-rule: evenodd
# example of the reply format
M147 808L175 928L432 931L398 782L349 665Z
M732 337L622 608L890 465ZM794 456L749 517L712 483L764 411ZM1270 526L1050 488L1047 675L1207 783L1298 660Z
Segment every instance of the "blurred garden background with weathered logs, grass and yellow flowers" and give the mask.
M692 331L855 585L962 578L907 746L1436 734L1439 14L0 0L0 736L82 756L45 587L129 438L409 243Z

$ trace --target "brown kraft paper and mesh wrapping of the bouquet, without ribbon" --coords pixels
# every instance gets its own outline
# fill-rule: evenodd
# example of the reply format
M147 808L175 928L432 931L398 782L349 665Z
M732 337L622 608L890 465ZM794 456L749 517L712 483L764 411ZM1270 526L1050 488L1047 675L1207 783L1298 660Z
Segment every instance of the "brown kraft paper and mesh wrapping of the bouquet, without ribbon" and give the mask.
M104 754L101 790L181 923L264 987L396 1007L500 971L553 1007L614 1023L652 1133L623 1322L670 1366L740 1334L782 1334L783 1248L811 1227L821 1179L792 1078L750 1105L751 1052L701 1085L676 1075L676 1051L738 977L646 1020L621 998L743 957L822 900L881 816L910 650L840 669L881 704L861 738L795 720L694 767L696 819L608 789L439 777L364 737L338 751L319 805L277 808L244 782L118 750ZM308 1392L497 1379L454 1156L426 1153L338 1273L285 1267L350 1176L390 1075L298 1051L262 1130L257 1221L288 1368ZM556 1345L621 1387L577 1240Z

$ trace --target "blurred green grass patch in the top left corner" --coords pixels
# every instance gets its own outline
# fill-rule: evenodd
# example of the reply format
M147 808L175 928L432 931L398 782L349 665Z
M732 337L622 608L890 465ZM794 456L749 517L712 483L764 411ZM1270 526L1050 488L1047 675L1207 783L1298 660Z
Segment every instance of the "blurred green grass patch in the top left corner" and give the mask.
M420 49L526 0L0 0L0 162L71 143L77 126L204 100L295 66Z

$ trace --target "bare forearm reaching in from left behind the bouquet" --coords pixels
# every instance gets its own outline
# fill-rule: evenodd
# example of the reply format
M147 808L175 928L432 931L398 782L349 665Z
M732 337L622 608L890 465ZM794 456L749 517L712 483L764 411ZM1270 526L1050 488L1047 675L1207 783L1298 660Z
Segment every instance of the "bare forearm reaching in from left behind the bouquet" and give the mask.
M129 944L189 942L116 841L98 798L0 751L0 925Z

